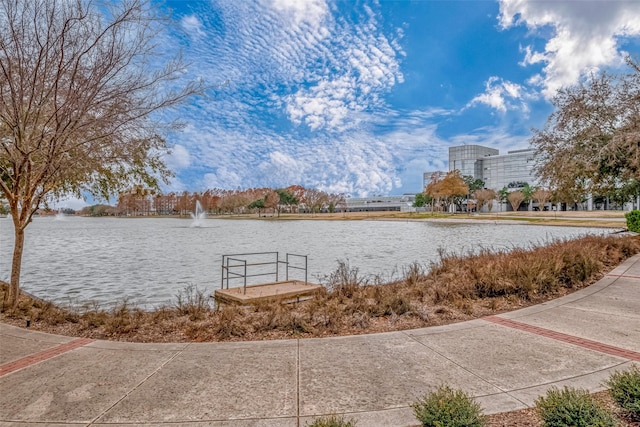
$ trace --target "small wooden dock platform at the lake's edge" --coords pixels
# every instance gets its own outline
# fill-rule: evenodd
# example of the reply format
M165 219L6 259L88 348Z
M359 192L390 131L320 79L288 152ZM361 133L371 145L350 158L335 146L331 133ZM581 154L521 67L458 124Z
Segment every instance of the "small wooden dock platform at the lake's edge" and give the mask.
M297 302L313 297L322 285L300 280L264 283L246 287L216 289L214 298L222 304L250 305L261 301Z

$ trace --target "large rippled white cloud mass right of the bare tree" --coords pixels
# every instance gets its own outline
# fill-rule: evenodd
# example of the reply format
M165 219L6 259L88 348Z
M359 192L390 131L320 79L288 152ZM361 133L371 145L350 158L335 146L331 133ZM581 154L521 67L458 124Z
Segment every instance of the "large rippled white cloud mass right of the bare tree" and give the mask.
M205 35L180 42L189 75L229 84L181 107L188 126L167 158L171 190L300 184L362 195L402 185L396 162L411 156L408 142L368 130L387 120L372 111L403 81L390 38L401 35L388 36L369 8L336 18L315 0L211 4L221 24L183 19Z

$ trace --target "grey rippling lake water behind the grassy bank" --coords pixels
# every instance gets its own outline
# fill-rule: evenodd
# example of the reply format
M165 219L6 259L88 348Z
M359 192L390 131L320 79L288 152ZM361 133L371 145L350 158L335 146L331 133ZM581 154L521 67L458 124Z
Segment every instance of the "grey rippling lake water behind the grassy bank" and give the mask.
M413 221L257 221L176 218L34 219L27 227L22 288L61 304L124 298L142 308L175 302L187 286L213 293L224 254L278 251L308 256L309 281L323 282L338 260L361 275L402 277L438 252L468 253L543 244L606 231L525 224ZM0 279L9 280L13 224L0 219ZM295 277L298 278L298 277ZM269 281L269 280L266 280Z

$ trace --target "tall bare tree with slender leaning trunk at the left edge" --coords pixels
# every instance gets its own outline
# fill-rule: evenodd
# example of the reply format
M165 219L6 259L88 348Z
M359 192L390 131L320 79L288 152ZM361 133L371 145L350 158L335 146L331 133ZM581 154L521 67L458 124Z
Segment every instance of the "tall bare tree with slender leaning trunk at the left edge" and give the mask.
M179 59L151 66L162 23L146 0L0 0L0 189L15 234L11 307L25 228L41 205L69 193L108 198L135 183L157 188L170 176L162 162L169 125L154 113L202 88L179 84Z

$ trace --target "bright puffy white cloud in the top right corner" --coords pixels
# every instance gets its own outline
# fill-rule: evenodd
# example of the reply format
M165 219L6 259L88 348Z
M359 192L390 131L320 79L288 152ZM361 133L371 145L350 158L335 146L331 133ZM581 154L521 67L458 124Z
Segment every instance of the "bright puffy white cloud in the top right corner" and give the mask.
M553 30L544 51L524 48L523 65L545 64L532 83L551 98L591 71L622 63L621 37L640 35L640 2L500 0L503 28L526 25L531 31Z

